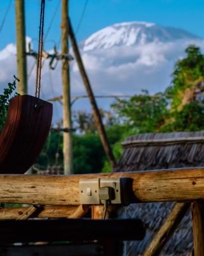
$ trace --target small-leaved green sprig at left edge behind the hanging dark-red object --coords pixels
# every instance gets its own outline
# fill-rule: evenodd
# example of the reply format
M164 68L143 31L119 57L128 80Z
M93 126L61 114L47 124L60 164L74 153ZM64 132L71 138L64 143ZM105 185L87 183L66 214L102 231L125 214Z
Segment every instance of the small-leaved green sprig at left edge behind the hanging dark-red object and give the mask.
M0 95L0 132L2 131L6 121L10 99L20 95L15 92L17 81L19 82L20 80L18 77L13 75L13 83L8 83L8 87L4 88L3 94Z

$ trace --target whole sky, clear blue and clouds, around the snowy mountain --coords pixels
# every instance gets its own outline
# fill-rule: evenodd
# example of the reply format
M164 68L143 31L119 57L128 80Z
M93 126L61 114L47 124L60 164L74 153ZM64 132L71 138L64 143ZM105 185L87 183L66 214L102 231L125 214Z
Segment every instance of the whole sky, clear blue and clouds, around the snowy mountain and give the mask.
M1 29L10 1L10 10ZM40 0L25 0L26 35L33 39L35 50L37 49L37 40L35 39L38 38L40 2ZM69 15L75 31L86 3L84 19L77 32L78 42L106 26L134 20L182 28L204 38L203 0L69 0ZM45 11L45 34L55 11L57 11L50 32L44 42L44 49L47 51L52 49L54 44L57 44L60 40L61 0L46 0ZM12 74L17 74L15 0L0 0L0 38L1 91L4 84L10 81ZM204 41L201 40L201 42L196 43L201 47L201 51L204 51ZM150 93L163 92L166 86L170 84L175 61L184 56L184 49L189 44L189 41L184 45L178 42L170 44L155 43L143 45L142 48L126 48L121 57L121 63L119 61L121 65L114 65L121 54L120 49L114 51L108 49L102 55L97 52L82 52L82 58L96 95L132 95L133 93L140 93L142 89L147 89ZM8 46L6 47L6 45ZM131 51L131 54L129 54L129 51ZM130 58L132 55L135 58L134 61ZM114 61L112 58L115 58ZM33 95L36 79L35 69L32 68L33 63L34 59L28 57L27 73L31 95ZM84 85L76 67L74 60L71 62L71 95L85 95ZM54 71L50 71L48 61L45 61L42 71L42 84L42 99L50 99L50 97L61 95L61 63L57 65ZM105 109L110 107L110 102L112 100L98 100L99 107ZM90 110L91 106L88 100L78 100L74 108ZM61 106L58 106L58 108L55 106L54 112L55 116L59 116Z

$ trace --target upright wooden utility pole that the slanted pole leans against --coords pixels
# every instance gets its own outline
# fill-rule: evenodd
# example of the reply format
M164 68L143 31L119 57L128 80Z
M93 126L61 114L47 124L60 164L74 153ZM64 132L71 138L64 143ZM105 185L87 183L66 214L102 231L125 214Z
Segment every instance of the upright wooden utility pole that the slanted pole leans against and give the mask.
M62 54L68 54L68 0L62 0ZM63 88L63 127L69 132L63 132L63 155L64 155L64 174L73 173L73 150L71 138L71 97L70 97L70 77L69 61L62 60L62 88Z

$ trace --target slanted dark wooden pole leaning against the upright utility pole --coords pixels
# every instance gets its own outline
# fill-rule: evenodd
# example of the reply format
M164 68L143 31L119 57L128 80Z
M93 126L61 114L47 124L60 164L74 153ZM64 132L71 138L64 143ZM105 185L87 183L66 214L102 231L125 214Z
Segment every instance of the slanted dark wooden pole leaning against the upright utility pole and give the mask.
M87 94L88 94L89 100L91 102L92 111L94 114L94 120L96 122L96 127L98 129L99 136L101 138L101 143L106 152L106 155L108 156L110 163L114 167L116 164L115 157L113 156L112 149L108 143L108 138L106 136L105 128L104 128L103 122L101 120L101 114L100 114L98 106L96 104L96 100L94 98L94 93L92 92L91 83L89 82L89 78L87 76L87 73L85 72L84 64L83 64L82 58L80 56L80 52L78 50L77 41L75 39L75 35L73 33L73 29L71 27L70 20L69 20L69 36L71 39L71 45L73 47L73 52L75 54L75 57L76 57L76 60L78 63L78 68L80 70L82 80L84 81L85 89L87 90Z

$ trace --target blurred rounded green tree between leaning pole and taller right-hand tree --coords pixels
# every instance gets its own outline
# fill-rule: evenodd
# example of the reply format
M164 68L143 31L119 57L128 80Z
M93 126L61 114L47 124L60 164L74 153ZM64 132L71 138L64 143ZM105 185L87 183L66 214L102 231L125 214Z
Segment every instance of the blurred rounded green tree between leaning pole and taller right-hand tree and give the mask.
M117 99L112 105L115 113L121 118L123 125L138 132L155 132L164 124L168 113L168 102L163 93L150 95L143 90L140 95L134 95L129 100Z

